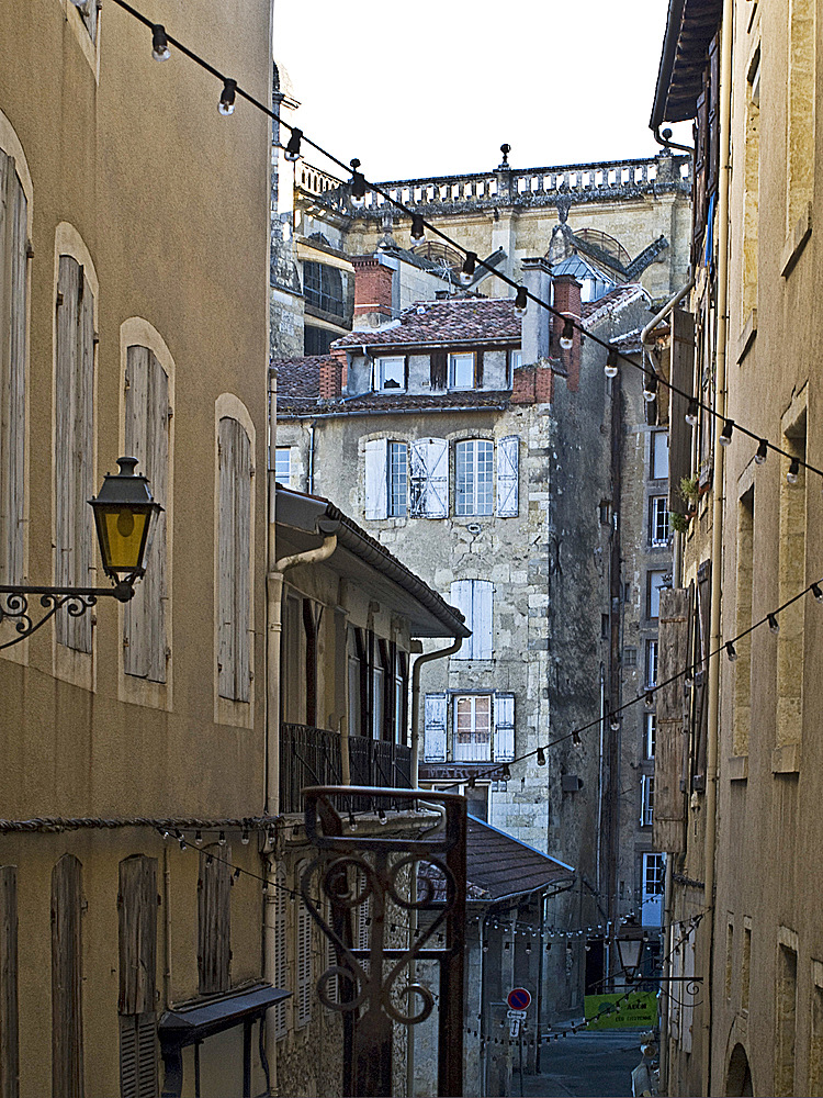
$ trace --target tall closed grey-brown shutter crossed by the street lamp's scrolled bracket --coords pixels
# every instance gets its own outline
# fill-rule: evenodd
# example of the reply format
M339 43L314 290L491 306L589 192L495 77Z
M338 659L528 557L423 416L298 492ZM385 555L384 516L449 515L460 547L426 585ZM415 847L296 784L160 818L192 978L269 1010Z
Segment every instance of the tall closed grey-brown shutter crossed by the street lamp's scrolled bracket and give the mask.
M90 586L94 441L94 299L82 267L60 256L55 376L55 552L58 586ZM91 615L55 618L57 641L91 651Z

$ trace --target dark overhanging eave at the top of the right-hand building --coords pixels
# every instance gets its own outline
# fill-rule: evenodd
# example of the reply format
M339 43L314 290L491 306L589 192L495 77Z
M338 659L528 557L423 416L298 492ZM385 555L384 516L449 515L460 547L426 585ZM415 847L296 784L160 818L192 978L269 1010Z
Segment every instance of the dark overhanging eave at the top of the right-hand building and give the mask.
M666 33L649 125L686 122L697 112L709 43L720 26L723 0L668 0Z

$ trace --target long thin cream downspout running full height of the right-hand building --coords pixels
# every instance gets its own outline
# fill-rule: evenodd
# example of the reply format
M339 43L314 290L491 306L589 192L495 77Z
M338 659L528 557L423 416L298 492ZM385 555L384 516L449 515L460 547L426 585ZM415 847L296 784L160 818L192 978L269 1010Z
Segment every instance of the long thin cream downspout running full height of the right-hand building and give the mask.
M732 114L732 4L723 4L720 56L720 179L718 194L718 336L714 373L715 415L726 416L726 339L729 328L729 183L731 177ZM711 537L711 648L717 651L721 639L721 579L723 572L723 482L725 448L714 448L712 484ZM714 851L717 844L718 741L720 737L720 657L709 664L709 713L706 755L706 906L709 914L709 957L706 996L706 1088L711 1094L712 1038L712 963L714 953Z

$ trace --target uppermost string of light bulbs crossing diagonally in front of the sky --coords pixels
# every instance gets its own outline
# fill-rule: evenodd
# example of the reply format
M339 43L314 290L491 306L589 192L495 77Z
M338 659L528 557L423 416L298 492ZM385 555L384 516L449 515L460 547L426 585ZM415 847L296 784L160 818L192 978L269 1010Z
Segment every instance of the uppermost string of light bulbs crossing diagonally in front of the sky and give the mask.
M78 7L84 3L84 0L72 0ZM302 156L302 145L305 143L312 148L316 149L322 156L324 156L331 164L341 168L343 171L351 169L351 179L349 180L350 188L350 200L351 204L356 210L361 210L365 205L365 195L369 191L377 194L387 202L391 206L398 210L401 213L412 219L412 239L415 243L419 243L425 238L426 231L438 236L440 239L444 240L451 247L455 248L460 254L464 256L463 267L460 272L461 282L465 285L471 284L476 276L476 269L480 266L482 269L486 270L489 274L495 276L500 281L505 282L508 287L515 290L515 312L516 315L522 316L526 313L528 302L532 301L534 304L540 305L545 309L552 316L557 317L563 321L563 330L560 336L560 346L564 350L570 350L574 345L575 333L585 335L593 343L597 344L607 352L607 360L605 372L607 377L613 378L618 373L618 361L622 360L625 365L632 367L635 370L640 370L644 374L644 392L651 394L653 397L656 394L657 388L662 385L667 389L670 393L675 393L684 400L688 401L688 410L686 413L686 422L694 426L697 423L697 417L699 413L706 412L711 415L714 419L723 422L723 428L719 438L722 446L728 446L731 444L732 435L736 429L740 434L747 436L748 438L756 441L757 452L755 455L755 461L758 464L763 464L766 460L766 456L769 450L775 453L780 455L789 460L789 472L790 478L789 483L796 483L800 468L808 470L809 472L816 473L823 481L823 469L819 469L816 466L811 464L804 458L800 458L797 455L789 453L781 447L777 446L775 442L769 441L764 438L758 433L751 430L743 424L736 423L734 419L730 419L721 415L714 407L702 401L699 401L694 393L685 392L677 385L662 374L657 373L654 367L646 367L643 362L636 362L628 354L619 350L608 343L606 339L601 339L599 336L595 335L584 327L584 325L576 321L573 316L567 313L563 313L555 309L550 302L543 301L537 294L532 293L522 283L517 282L510 276L506 274L505 271L500 271L493 265L488 264L485 259L480 258L477 253L472 251L466 248L460 242L453 239L448 233L438 228L436 225L426 221L421 213L410 210L404 202L396 199L388 191L384 190L379 183L371 182L367 180L363 173L360 171L361 163L357 158L352 158L349 164L345 164L339 157L329 153L328 149L318 145L317 142L307 137L302 130L297 126L293 126L291 123L282 119L275 111L264 103L261 103L259 99L247 92L236 79L227 77L219 69L211 65L205 58L200 56L193 49L189 48L184 43L180 42L173 35L169 34L161 23L154 23L150 19L144 15L140 11L134 8L127 0L112 0L119 8L127 12L133 19L137 20L144 26L151 31L151 56L157 61L166 61L171 57L171 51L169 46L174 46L179 49L185 57L194 61L201 68L203 68L211 76L215 77L217 80L222 81L223 90L218 100L218 110L223 115L232 115L235 111L235 105L237 98L246 100L257 110L261 111L278 125L284 126L289 133L289 142L283 146L284 155L288 159L296 161Z

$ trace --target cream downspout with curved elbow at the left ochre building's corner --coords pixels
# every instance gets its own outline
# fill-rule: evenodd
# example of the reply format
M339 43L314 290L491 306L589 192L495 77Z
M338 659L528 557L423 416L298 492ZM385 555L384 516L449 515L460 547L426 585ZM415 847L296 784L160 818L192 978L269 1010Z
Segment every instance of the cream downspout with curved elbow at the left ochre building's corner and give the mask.
M275 382L269 382L269 397L272 407L275 397ZM337 548L337 535L324 538L323 545L307 552L295 553L277 560L274 504L277 484L274 470L269 470L269 529L266 576L267 595L267 647L266 647L266 811L269 816L280 815L280 642L283 631L283 574L298 564L317 564L326 560ZM277 856L267 843L264 851L264 873L268 887L263 897L263 978L274 985L274 904L277 903ZM270 1093L278 1091L278 1039L275 1013L266 1012L266 1047L269 1054Z

